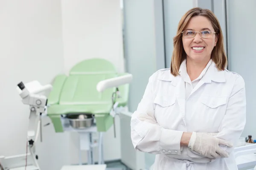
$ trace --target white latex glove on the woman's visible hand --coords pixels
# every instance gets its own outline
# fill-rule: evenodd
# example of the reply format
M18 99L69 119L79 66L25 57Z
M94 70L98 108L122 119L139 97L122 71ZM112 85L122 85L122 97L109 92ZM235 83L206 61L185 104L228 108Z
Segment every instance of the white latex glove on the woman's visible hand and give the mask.
M207 133L192 133L188 147L200 155L208 158L229 157L228 153L221 149L219 145L232 147L233 144L223 139L218 139Z

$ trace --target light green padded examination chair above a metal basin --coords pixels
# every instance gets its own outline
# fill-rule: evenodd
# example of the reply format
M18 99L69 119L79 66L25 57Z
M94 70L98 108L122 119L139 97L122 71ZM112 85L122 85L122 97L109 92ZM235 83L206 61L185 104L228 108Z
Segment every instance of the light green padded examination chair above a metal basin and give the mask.
M58 75L52 83L48 97L47 115L56 133L64 131L61 117L67 114L89 113L94 115L98 132L106 132L113 125L110 111L113 107L112 95L116 88L99 93L98 82L126 75L119 74L114 65L105 59L87 59L71 68L69 75ZM121 98L118 106L128 102L129 84L118 87Z

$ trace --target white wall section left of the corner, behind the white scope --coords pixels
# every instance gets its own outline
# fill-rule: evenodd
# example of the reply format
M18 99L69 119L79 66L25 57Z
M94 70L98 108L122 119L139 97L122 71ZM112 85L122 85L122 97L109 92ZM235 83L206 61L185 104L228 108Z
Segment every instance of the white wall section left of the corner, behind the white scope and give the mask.
M36 79L47 84L64 72L60 0L0 0L0 37L0 155L11 156L26 152L29 121L17 83ZM44 149L37 148L39 161L59 155L61 138L47 134L48 127ZM51 147L56 149L50 152Z

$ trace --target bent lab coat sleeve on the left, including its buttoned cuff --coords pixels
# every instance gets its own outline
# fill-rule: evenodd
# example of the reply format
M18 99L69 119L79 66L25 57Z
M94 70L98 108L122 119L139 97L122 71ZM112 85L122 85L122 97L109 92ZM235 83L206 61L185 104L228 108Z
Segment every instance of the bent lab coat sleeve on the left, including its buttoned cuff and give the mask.
M154 118L154 74L149 78L143 99L131 117L131 140L135 150L152 154L180 155L182 131L165 129Z

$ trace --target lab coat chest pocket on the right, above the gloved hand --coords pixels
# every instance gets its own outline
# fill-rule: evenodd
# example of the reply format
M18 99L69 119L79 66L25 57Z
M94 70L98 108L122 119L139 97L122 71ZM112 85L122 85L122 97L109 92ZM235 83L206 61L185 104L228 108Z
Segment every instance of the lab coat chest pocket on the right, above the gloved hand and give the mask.
M224 118L226 113L227 97L201 96L200 102L201 107L199 109L201 110L201 113L204 114L203 117L206 118L206 123L212 126L213 129L218 129L221 124L221 120Z

